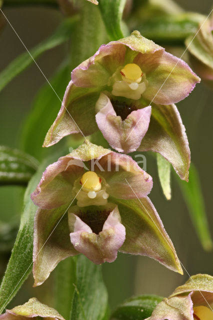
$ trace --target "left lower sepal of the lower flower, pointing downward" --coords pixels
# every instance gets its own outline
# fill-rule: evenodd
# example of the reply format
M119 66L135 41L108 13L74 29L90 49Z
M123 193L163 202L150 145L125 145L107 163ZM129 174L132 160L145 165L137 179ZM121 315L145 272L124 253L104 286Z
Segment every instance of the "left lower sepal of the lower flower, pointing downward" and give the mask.
M56 209L38 209L34 219L34 286L42 284L58 262L78 254L70 243L67 223L68 205ZM57 224L58 223L58 224Z

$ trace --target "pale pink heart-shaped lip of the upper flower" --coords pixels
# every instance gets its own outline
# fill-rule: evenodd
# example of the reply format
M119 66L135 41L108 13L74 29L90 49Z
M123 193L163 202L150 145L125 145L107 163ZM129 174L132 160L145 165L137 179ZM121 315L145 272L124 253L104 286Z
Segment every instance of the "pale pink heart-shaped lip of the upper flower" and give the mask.
M132 111L122 120L108 96L101 93L96 109L99 110L95 116L98 128L111 147L123 153L135 151L148 129L151 106Z

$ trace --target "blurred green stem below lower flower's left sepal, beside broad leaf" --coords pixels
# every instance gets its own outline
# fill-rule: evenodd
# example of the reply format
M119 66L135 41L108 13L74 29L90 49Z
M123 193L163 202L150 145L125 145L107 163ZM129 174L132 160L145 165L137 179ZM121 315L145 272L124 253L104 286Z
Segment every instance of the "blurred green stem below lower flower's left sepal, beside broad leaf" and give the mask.
M58 263L54 271L55 309L65 319L69 319L71 301L74 293L76 257L70 256Z

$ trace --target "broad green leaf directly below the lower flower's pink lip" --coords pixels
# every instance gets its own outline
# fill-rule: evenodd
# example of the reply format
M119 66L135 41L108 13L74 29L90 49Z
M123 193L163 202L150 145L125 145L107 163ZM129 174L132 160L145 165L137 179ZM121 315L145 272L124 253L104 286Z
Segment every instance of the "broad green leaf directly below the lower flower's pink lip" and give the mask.
M70 320L103 320L107 312L107 291L101 266L84 255L77 256L74 286Z

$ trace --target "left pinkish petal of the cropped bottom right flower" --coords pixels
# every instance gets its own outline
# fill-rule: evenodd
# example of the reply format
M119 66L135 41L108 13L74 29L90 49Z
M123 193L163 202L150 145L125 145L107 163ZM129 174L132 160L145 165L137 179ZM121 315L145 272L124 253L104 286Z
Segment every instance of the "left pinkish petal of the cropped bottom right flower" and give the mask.
M190 294L164 298L153 310L149 320L193 320L193 304Z

